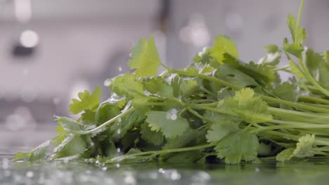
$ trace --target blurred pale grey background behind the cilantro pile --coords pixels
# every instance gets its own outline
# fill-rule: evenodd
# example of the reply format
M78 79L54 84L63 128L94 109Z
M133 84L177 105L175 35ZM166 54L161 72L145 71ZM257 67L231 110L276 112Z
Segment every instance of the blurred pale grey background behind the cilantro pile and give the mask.
M240 58L289 36L299 0L0 0L0 148L36 146L56 135L53 115L72 97L129 71L129 50L153 34L162 61L184 67L218 34ZM329 1L305 1L307 45L326 50ZM109 96L104 88L103 100Z

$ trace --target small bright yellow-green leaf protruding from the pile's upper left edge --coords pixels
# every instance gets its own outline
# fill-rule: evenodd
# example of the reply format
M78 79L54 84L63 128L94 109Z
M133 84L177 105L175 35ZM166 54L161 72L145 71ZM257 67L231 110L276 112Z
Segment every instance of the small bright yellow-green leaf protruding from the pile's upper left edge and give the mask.
M84 93L79 93L79 100L72 99L72 103L69 106L70 112L72 114L79 114L80 112L86 109L96 109L99 104L101 93L101 87L96 87L96 89L93 90L93 93L91 95L89 94L88 90L84 90Z

